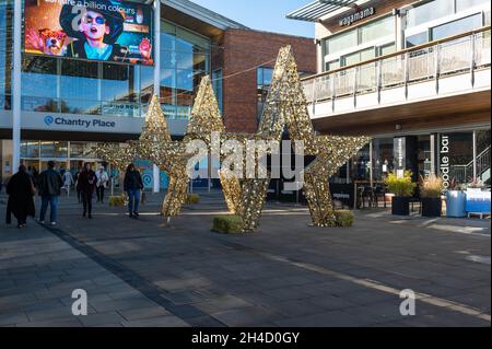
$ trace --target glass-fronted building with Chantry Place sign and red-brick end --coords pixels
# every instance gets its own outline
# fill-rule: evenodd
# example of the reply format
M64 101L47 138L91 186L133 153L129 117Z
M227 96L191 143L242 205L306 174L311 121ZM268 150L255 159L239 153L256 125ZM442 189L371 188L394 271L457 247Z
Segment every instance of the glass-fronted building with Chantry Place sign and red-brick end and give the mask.
M316 72L313 38L256 32L188 0L87 2L93 9L105 7L119 12L99 20L97 25L112 27L112 20L124 16L122 34L117 43L121 39L129 44L125 58L118 56L113 60L104 60L101 58L104 55L85 46L84 54L73 53L77 45L69 44L69 36L80 32L70 34L72 30L62 25L60 2L20 2L24 25L20 34L21 89L16 91L13 86L14 0L0 0L0 177L3 179L14 170L15 94L21 97L21 161L44 168L47 161L56 160L75 171L82 161L98 162L92 153L97 142L138 138L153 93L160 94L171 132L179 137L186 129L201 78L211 74L227 129L251 131L256 130L261 94L268 89L280 46L292 45L301 69ZM95 26L95 20L97 16L85 15L75 22L80 27ZM61 37L65 54L49 51L47 42L45 47L37 47L36 40L33 43L33 30L42 37L46 28L50 40L58 39L56 35L67 35ZM134 44L134 37L152 47L150 58L140 53L142 47ZM147 185L152 186L151 164L145 172ZM161 177L165 187L166 176Z

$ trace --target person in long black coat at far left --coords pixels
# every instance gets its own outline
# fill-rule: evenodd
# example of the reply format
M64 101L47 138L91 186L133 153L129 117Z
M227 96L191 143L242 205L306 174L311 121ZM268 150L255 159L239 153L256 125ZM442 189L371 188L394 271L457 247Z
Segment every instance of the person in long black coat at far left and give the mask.
M35 193L36 189L31 181L31 176L27 174L27 170L24 165L21 165L19 172L10 178L7 186L7 194L9 195L8 216L13 213L17 219L17 228L25 226L27 216L34 217L33 196ZM10 217L7 218L7 222L10 224Z

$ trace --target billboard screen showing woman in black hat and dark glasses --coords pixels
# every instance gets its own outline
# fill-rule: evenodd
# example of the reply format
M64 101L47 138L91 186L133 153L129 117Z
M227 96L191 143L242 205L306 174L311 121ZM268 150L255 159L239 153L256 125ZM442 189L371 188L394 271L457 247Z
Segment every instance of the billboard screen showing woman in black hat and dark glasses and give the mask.
M152 5L116 0L25 0L24 51L153 66Z

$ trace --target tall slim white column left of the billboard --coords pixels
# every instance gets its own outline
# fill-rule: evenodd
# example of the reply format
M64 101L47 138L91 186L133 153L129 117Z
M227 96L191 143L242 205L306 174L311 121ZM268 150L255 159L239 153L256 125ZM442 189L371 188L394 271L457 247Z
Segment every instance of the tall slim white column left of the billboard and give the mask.
M12 74L12 174L21 164L21 42L22 0L14 2L13 74Z

